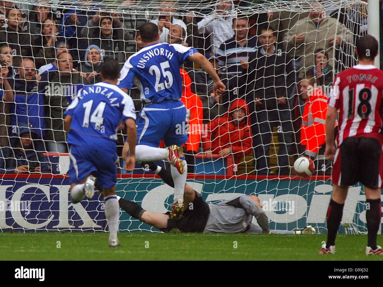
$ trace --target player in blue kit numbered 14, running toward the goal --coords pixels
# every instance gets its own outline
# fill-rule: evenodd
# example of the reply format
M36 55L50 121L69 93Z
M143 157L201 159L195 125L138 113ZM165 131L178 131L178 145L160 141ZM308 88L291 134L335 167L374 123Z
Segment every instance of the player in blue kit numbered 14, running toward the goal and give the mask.
M116 86L119 66L106 59L101 66L102 82L85 86L65 111L65 130L70 145L69 182L72 203L93 198L95 177L105 199L105 216L109 226L109 246L120 247L117 232L119 205L116 196L117 129L126 123L130 153L125 168L135 165L137 140L136 112L133 100ZM95 177L94 177L94 176Z

